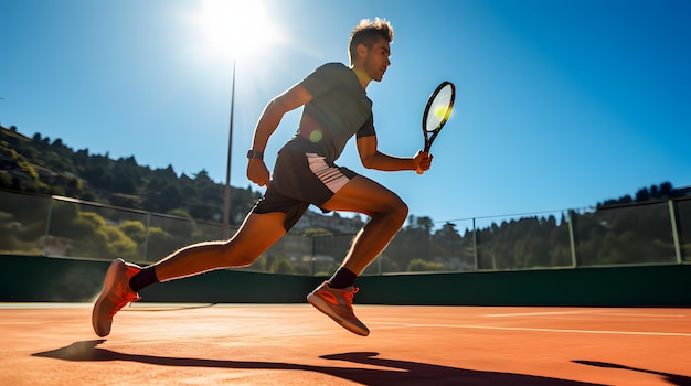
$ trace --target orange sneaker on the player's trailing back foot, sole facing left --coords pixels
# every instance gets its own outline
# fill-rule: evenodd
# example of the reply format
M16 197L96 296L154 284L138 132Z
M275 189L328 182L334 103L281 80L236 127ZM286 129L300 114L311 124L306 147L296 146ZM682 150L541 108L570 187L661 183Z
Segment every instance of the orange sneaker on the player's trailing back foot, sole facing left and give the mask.
M92 312L92 325L96 335L108 335L113 317L130 301L141 299L137 292L129 288L129 279L140 270L139 266L125 262L123 259L115 259L110 262L103 292L94 303L94 311Z

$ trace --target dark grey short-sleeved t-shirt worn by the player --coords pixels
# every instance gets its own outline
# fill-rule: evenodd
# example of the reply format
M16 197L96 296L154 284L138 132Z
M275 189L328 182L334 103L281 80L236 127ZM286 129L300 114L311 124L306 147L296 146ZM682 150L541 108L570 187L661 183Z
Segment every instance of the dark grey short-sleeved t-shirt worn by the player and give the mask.
M372 100L358 76L342 63L325 64L300 83L312 100L305 105L300 126L284 149L313 152L336 161L346 143L375 136Z

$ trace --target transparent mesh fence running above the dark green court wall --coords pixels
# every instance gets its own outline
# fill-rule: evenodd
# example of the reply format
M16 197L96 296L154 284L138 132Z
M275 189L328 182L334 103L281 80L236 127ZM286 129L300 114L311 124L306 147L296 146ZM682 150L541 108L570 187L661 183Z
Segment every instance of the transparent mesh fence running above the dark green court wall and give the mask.
M465 218L433 229L408 224L365 274L690 264L689 199ZM289 233L246 269L330 275L353 236ZM219 223L0 191L0 254L146 264L221 238Z

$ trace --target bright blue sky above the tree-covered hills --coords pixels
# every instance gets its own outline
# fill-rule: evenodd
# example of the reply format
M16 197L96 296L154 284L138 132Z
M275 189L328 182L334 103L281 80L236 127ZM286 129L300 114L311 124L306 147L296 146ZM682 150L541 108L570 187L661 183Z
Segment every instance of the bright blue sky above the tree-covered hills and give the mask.
M251 185L245 152L266 103L320 64L348 63L352 26L375 17L395 30L392 66L368 88L380 150L422 148L429 93L457 86L429 172L364 170L354 143L339 160L397 192L411 214L560 211L691 185L690 1L227 3L255 19L234 44L262 43L235 55L233 186ZM1 0L0 124L224 183L238 49L211 50L202 13L192 0ZM264 43L264 26L279 39ZM288 114L269 141L269 167L298 118Z

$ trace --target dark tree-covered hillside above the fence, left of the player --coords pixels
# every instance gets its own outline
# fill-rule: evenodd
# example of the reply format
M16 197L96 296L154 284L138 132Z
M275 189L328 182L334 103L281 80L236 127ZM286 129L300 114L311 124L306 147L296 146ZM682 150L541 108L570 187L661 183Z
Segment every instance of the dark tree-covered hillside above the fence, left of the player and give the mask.
M178 175L173 168L151 169L134 157L113 160L74 150L61 139L17 128L0 127L0 189L23 193L65 195L127 208L156 213L189 214L198 221L221 221L224 185L212 181L205 170ZM231 223L240 223L258 192L232 187Z

